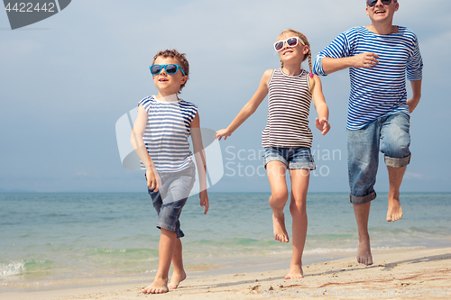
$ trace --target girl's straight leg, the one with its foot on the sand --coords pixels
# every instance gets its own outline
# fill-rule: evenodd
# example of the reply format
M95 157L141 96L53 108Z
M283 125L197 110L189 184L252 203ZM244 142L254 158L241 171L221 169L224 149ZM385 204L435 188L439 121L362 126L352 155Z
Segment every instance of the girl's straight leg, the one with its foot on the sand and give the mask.
M290 262L290 272L285 279L302 278L304 272L302 270L302 253L307 236L307 192L308 179L310 170L308 169L291 169L291 202L290 213L293 218L292 224L292 242L293 256Z

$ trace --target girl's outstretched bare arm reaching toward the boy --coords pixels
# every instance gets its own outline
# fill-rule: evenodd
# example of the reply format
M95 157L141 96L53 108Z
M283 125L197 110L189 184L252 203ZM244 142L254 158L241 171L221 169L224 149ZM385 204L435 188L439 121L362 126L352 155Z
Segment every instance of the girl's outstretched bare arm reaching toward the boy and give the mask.
M228 125L226 129L221 129L215 133L215 139L221 141L221 138L224 137L224 140L227 139L230 135L232 135L235 130L241 126L244 121L247 120L255 111L258 106L262 103L264 97L268 95L268 83L270 82L272 76L272 69L268 69L263 73L262 80L260 80L260 85L258 86L257 91L253 94L253 97L249 102L244 105L243 109L240 113L235 117L235 120Z

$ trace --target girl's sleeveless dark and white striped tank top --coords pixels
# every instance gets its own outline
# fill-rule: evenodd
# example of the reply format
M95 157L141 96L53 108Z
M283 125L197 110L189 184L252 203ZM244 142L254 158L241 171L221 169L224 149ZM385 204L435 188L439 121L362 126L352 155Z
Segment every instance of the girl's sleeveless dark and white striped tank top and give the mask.
M268 122L262 132L262 146L311 148L308 72L302 69L298 76L289 76L277 68L272 72L268 88Z

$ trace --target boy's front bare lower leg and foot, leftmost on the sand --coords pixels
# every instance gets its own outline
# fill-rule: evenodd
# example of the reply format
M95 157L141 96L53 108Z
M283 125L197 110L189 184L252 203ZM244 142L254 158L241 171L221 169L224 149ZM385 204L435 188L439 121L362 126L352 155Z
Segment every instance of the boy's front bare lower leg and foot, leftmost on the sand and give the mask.
M168 274L170 269L170 261L174 254L177 234L170 232L167 229L161 228L160 245L158 248L158 270L150 286L143 288L144 294L161 294L167 293L168 288Z

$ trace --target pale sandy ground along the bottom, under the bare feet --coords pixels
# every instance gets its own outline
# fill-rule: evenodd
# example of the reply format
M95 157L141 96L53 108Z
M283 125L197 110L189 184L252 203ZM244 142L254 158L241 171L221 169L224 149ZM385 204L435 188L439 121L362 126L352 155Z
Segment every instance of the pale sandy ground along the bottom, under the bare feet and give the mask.
M304 267L305 277L284 279L288 269L188 277L162 295L143 295L137 284L2 293L2 300L66 299L427 299L451 298L451 248L391 250L373 255L373 266L354 257Z

